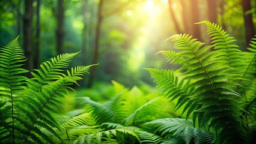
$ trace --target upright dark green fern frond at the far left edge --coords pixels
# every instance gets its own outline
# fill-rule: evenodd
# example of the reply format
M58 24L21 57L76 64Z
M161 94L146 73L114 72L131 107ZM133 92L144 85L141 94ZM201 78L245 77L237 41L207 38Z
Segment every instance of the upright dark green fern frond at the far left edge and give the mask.
M16 101L14 101L14 95L22 89L27 79L22 74L28 71L20 68L24 65L26 58L18 38L19 36L0 49L0 100L4 100L4 97L7 98L7 103L0 103L5 112L5 114L1 113L1 122L4 122L5 125L2 125L0 129L0 143L4 143L7 137L9 142L15 143L14 105ZM11 122L8 119L11 119Z

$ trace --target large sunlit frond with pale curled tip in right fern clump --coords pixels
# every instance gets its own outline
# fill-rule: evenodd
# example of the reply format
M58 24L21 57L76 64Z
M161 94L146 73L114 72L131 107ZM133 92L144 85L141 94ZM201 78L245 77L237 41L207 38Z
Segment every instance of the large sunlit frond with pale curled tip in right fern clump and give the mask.
M174 35L171 40L175 41L175 48L190 52L189 55L186 55L187 59L195 59L195 61L187 61L187 65L183 67L186 72L182 75L184 79L197 80L190 86L195 88L191 93L191 98L197 101L197 104L202 105L195 111L201 113L202 119L199 119L199 115L194 115L197 116L199 125L207 125L210 122L210 127L222 131L221 140L239 139L239 136L242 135L241 132L244 132L240 124L240 111L242 110L240 101L242 98L240 94L232 90L235 87L234 83L227 81L233 76L232 74L225 75L225 71L230 69L226 65L218 65L219 61L215 60L219 57L212 54L214 52L198 53L200 51L198 46L202 46L202 44L194 43L195 40L190 40L187 35ZM204 58L212 59L212 61L204 61ZM227 122L227 125L221 124L224 121ZM240 128L237 128L238 125ZM230 137L228 138L227 135L224 137L224 134L229 134Z

